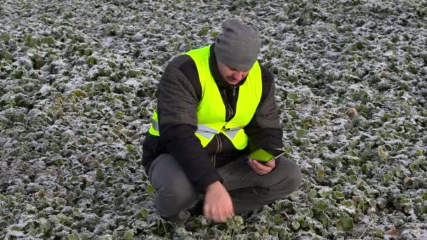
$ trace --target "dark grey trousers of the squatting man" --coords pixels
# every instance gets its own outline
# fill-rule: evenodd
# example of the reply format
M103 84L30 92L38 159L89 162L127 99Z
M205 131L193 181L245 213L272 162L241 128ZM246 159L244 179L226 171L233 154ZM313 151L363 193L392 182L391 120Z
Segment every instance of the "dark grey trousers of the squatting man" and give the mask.
M301 185L300 168L281 157L276 167L266 175L258 175L247 164L247 159L235 159L218 171L223 185L231 196L235 213L242 214L261 208L294 192ZM171 154L161 154L152 162L148 175L155 187L155 205L166 220L182 224L203 195L195 191L187 175Z

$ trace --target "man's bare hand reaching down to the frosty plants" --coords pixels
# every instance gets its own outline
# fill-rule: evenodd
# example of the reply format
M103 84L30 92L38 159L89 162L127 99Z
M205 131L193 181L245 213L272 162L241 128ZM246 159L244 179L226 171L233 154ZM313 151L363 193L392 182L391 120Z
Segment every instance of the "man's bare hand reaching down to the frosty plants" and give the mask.
M203 215L215 222L226 222L235 213L230 194L221 182L213 182L206 188Z

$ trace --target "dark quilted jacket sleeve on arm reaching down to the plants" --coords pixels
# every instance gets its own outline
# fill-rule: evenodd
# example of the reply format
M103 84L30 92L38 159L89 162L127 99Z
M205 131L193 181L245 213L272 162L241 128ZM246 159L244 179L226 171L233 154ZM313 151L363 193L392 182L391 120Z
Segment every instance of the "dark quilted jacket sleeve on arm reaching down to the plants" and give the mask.
M159 82L157 113L161 144L175 157L195 189L205 192L208 185L222 179L195 136L198 104L195 88L200 86L195 84L199 79L194 79L198 78L194 71L197 73L188 55L169 63Z

